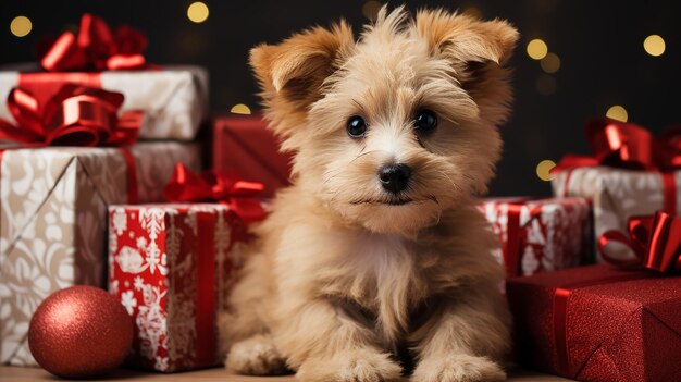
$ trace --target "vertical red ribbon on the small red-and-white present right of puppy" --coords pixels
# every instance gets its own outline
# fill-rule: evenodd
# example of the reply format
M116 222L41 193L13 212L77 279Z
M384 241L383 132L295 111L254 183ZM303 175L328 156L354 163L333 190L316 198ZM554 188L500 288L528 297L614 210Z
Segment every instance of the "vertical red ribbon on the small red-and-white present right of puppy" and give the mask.
M504 263L506 264L506 274L509 278L522 275L522 249L525 246L527 233L520 226L520 211L522 206L531 199L520 199L507 204L507 225L506 225L506 243L502 250L504 254ZM535 206L530 209L530 221L535 219L542 212L542 206Z

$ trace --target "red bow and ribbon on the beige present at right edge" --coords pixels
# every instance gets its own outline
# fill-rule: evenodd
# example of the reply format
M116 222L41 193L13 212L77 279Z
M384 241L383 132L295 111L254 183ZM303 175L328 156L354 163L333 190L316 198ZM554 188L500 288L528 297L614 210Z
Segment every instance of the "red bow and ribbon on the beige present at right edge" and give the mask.
M552 172L595 165L659 171L663 173L664 209L677 211L676 182L670 172L681 169L681 126L669 127L655 137L647 128L633 123L598 118L586 123L586 139L594 156L568 155ZM570 175L568 172L564 183L564 196Z

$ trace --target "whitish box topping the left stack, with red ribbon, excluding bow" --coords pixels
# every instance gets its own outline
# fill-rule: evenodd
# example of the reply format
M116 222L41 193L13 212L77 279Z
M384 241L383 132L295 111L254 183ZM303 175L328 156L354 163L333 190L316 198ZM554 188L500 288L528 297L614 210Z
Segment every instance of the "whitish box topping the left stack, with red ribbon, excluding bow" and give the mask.
M35 70L35 67L27 65ZM41 104L66 83L101 87L123 94L121 113L144 112L141 139L195 138L208 115L208 73L199 66L165 66L162 70L103 72L0 71L0 119L13 121L4 100L18 86Z

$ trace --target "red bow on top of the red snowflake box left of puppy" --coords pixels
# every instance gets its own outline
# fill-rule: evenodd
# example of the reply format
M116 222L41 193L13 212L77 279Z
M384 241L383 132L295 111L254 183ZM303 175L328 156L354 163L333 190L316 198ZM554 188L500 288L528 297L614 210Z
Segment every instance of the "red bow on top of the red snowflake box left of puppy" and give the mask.
M173 177L165 186L168 201L218 201L230 208L246 223L264 219L265 213L257 196L262 193L262 183L236 180L225 173L207 171L193 173L183 163L177 163Z

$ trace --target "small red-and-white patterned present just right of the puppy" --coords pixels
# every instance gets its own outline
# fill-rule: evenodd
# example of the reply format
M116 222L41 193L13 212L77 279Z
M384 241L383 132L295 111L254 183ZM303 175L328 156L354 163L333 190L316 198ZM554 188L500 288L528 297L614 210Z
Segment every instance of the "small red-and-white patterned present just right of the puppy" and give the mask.
M584 198L487 198L479 206L500 247L494 252L509 278L591 261L591 206Z

